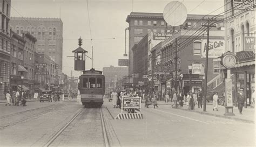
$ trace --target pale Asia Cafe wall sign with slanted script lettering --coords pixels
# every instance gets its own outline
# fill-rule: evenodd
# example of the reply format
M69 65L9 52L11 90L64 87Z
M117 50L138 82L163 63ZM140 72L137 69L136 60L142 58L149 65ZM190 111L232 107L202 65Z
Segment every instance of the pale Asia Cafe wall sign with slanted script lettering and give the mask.
M207 40L203 39L201 42L202 57L206 57ZM218 58L225 52L224 39L210 39L208 58Z

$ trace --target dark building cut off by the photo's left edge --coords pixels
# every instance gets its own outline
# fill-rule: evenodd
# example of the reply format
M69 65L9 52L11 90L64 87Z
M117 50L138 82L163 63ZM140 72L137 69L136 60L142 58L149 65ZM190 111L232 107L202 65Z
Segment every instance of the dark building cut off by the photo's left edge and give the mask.
M10 83L10 6L11 0L0 2L0 99L5 99L4 93L9 90Z

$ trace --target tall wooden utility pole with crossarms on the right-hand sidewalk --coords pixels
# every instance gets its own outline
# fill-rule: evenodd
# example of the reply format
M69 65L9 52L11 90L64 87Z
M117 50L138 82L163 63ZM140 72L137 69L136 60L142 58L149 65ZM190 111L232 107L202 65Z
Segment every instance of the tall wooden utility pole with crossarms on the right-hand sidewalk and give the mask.
M205 20L203 18L203 20ZM208 72L208 51L209 51L209 32L211 27L216 27L210 24L210 19L207 19L207 24L202 26L207 27L207 43L206 43L206 60L205 60L205 82L204 82L204 111L206 111L206 95L207 95L207 72Z

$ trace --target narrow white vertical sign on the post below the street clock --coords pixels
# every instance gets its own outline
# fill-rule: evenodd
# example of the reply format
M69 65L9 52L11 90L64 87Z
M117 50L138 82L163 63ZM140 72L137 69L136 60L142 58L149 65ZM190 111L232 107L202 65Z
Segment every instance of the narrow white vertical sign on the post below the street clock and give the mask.
M227 106L233 106L232 79L225 79L225 97Z

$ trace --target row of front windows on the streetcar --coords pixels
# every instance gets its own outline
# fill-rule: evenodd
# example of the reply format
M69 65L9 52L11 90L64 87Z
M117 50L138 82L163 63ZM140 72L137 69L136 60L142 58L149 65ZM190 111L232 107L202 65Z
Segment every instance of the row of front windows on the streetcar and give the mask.
M83 88L102 88L102 78L83 78Z

